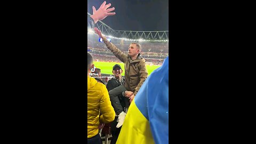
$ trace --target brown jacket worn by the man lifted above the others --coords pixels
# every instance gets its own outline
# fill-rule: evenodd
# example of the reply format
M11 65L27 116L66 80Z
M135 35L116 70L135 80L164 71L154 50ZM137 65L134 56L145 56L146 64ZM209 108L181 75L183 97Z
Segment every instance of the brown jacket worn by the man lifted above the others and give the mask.
M125 88L136 95L141 85L148 77L145 59L143 59L139 53L137 59L131 60L131 57L128 54L124 54L121 50L117 49L117 47L110 43L106 37L103 37L102 39L108 49L113 52L119 60L124 62Z

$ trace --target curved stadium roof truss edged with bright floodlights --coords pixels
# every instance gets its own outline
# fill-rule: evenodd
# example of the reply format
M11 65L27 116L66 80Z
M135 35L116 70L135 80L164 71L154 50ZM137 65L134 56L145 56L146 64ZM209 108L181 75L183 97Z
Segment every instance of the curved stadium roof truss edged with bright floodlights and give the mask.
M88 15L91 15L87 12ZM117 39L131 39L132 41L158 41L169 42L169 31L126 31L126 30L114 30L102 21L98 21L95 24L101 33L109 36L110 38ZM88 30L89 33L94 33L92 29Z

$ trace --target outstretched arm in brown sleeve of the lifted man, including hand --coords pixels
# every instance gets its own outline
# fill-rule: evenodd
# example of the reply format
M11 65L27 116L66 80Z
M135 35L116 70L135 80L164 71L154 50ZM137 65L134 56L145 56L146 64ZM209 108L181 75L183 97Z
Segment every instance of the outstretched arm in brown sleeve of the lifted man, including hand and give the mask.
M126 62L128 59L128 55L124 54L121 50L119 50L114 44L110 43L105 36L102 36L101 31L98 28L94 28L96 34L102 38L103 42L106 44L108 49L113 52L113 54L122 62Z

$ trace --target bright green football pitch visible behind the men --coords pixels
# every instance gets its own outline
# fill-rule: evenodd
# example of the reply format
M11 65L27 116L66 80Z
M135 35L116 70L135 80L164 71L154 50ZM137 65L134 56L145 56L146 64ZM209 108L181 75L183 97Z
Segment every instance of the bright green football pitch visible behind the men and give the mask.
M94 61L94 66L101 69L101 74L110 74L113 75L112 73L112 68L114 65L120 65L123 69L122 76L124 76L124 63L120 62L100 62L100 61ZM159 68L160 66L146 66L148 70L148 75L152 73L155 69Z

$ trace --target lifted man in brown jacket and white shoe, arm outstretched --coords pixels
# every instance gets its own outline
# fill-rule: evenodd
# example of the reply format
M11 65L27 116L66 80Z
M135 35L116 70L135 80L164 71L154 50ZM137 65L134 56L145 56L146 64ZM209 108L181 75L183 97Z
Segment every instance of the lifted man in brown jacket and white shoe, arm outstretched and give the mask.
M124 54L114 44L110 43L106 37L102 36L101 31L94 28L95 33L103 39L103 42L107 45L108 49L114 53L114 55L124 62L125 67L125 84L116 87L109 91L109 97L114 110L118 114L117 128L123 125L125 113L118 99L118 95L125 91L125 95L130 99L130 102L134 99L138 93L141 85L145 82L148 73L145 65L145 59L140 55L141 45L138 43L131 43L129 46L129 54Z

